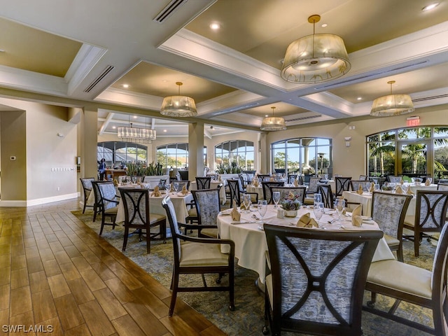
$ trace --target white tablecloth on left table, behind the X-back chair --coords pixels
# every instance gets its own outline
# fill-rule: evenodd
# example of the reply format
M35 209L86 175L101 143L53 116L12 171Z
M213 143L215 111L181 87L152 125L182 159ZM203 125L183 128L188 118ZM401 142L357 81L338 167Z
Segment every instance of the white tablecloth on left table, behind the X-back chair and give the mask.
M164 216L167 215L167 211L165 211L165 208L162 207L162 199L165 196L166 196L165 194L162 194L161 197L149 198L149 209L152 214L160 214ZM173 202L174 211L176 211L177 221L179 221L180 223L185 223L185 218L188 216L188 209L186 204L193 201L193 195L191 193L188 193L186 196L178 196L171 193L169 197ZM125 208L123 207L123 203L120 202L118 204L116 223L122 223L124 221L125 221Z

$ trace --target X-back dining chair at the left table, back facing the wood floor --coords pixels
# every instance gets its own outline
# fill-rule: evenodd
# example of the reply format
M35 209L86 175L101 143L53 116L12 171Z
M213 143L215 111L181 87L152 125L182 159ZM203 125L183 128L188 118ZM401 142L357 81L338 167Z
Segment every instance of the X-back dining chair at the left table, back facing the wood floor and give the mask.
M152 214L149 207L148 189L138 188L118 188L121 195L121 201L125 209L125 235L123 239L122 251L126 250L129 229L137 229L139 241L146 233L146 253L151 253L151 239L167 237L167 218L164 215ZM159 228L158 232L151 233L152 228Z

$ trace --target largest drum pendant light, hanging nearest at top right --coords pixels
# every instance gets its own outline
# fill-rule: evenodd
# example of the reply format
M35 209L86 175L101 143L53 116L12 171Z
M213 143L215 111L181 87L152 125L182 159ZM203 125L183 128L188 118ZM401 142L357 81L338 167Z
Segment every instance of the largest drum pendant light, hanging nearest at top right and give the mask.
M315 34L320 15L311 15L313 34L290 43L281 78L292 83L321 83L343 76L351 69L344 41L333 34Z

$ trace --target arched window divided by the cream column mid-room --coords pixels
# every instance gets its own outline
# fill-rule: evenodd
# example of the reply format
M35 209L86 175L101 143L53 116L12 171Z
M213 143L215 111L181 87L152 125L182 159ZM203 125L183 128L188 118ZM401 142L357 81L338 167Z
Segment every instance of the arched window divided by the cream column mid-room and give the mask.
M188 168L188 144L158 146L157 162L163 167ZM207 147L204 146L204 165L207 166Z

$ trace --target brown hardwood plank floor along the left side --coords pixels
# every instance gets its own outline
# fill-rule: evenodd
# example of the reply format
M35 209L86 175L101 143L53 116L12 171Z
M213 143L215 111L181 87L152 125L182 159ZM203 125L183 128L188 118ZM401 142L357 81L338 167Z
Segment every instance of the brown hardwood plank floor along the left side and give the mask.
M78 200L0 207L4 335L225 335L179 298L169 318L169 290L73 216L76 209Z

